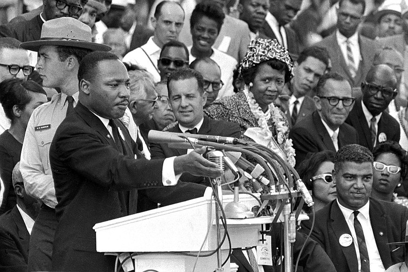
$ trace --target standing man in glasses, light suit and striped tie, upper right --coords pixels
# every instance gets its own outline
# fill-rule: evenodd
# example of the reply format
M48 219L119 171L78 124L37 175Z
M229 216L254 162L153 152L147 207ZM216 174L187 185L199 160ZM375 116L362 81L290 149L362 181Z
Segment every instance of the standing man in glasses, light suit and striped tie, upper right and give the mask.
M331 71L346 78L352 87L360 87L381 47L357 31L366 7L364 0L340 0L337 30L315 45L327 49Z

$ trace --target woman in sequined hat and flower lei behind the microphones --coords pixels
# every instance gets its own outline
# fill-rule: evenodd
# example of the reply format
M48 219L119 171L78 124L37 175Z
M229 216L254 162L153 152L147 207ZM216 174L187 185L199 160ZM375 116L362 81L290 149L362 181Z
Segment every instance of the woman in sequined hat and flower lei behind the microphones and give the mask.
M239 67L245 83L234 96L217 100L205 110L216 120L236 122L242 136L270 147L295 165L292 140L284 113L273 102L292 78L293 60L276 40L255 39Z

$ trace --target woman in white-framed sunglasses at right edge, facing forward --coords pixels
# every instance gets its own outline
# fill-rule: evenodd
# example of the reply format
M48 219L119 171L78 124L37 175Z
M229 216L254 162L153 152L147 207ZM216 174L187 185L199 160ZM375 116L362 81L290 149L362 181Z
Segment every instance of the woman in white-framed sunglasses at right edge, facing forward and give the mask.
M408 199L394 193L406 176L408 164L406 151L397 142L385 141L374 147L373 156L371 197L378 200L393 201L408 207Z

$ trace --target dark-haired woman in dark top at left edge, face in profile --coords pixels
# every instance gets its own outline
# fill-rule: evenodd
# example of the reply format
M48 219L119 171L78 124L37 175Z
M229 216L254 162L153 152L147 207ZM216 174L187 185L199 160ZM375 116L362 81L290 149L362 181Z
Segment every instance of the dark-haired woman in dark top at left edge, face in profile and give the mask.
M5 80L0 83L0 90L0 103L11 121L10 129L0 135L0 176L5 187L0 205L0 214L3 214L16 205L12 171L20 161L22 142L31 114L35 108L47 102L47 95L39 84L22 79Z

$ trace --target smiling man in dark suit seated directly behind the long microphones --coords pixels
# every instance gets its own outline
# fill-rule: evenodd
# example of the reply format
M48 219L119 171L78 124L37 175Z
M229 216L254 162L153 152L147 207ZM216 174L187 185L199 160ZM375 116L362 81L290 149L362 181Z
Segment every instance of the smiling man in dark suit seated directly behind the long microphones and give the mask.
M164 131L177 133L193 133L219 135L224 137L239 137L240 127L236 123L217 121L204 115L207 93L203 88L201 74L190 68L174 71L167 80L170 105L176 122L170 124ZM171 149L167 144L154 143L150 145L151 158L169 158L187 153L187 150ZM184 174L184 182L205 184L203 176L193 177ZM207 185L207 184L206 184Z

